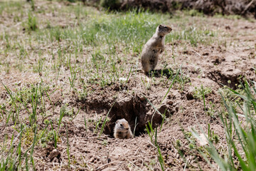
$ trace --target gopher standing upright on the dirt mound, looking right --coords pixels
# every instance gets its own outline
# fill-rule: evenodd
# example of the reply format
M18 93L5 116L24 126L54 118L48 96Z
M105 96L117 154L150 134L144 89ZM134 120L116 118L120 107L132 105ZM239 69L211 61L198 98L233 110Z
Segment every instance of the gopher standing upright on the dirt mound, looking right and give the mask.
M164 51L164 38L171 32L171 27L159 25L156 33L146 42L142 50L142 69L149 73L156 67L159 54Z

